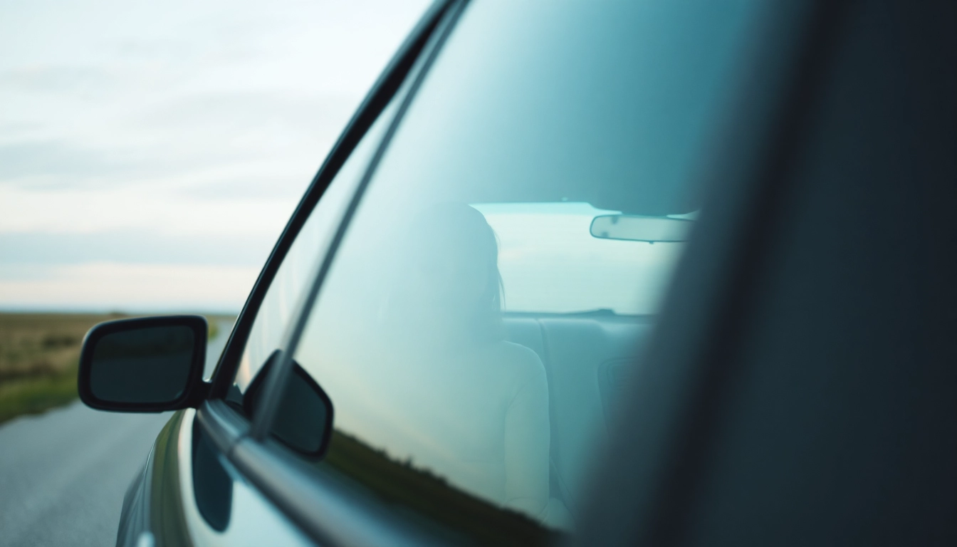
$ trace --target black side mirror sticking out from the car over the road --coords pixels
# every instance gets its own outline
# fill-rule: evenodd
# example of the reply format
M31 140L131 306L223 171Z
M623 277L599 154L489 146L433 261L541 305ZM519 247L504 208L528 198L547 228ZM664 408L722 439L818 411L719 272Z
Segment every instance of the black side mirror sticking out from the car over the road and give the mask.
M143 317L100 323L79 355L79 399L119 412L195 406L205 392L206 318Z

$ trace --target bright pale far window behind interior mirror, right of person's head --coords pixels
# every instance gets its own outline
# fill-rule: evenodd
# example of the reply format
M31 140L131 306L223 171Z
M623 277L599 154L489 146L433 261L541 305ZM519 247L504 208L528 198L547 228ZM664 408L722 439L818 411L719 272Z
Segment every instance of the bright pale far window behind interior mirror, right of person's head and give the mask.
M589 230L592 218L619 212L588 203L473 207L499 239L506 312L655 313L684 246L594 238Z

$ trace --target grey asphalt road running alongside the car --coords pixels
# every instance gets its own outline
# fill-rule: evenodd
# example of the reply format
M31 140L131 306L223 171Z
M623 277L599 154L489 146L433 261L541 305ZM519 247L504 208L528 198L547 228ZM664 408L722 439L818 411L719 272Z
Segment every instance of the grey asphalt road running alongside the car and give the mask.
M210 341L206 376L231 329ZM0 545L115 544L122 496L171 415L76 401L0 425Z

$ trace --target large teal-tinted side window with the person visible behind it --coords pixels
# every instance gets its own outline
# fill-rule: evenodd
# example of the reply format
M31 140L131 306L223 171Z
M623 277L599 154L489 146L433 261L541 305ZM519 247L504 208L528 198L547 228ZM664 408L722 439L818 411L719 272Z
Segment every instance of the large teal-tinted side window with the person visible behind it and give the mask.
M683 247L592 221L693 224L747 6L469 4L294 352L317 472L483 542L574 528Z

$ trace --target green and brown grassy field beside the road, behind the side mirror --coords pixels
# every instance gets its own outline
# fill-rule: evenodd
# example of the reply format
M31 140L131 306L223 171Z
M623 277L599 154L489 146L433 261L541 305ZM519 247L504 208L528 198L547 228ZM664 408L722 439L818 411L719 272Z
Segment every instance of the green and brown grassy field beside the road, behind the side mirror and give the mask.
M77 399L79 349L87 330L122 313L0 313L0 423ZM210 338L223 316L207 315ZM228 318L232 319L232 318Z

